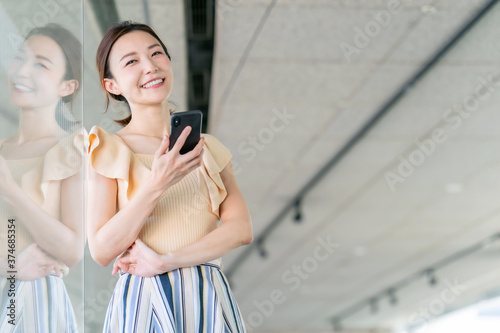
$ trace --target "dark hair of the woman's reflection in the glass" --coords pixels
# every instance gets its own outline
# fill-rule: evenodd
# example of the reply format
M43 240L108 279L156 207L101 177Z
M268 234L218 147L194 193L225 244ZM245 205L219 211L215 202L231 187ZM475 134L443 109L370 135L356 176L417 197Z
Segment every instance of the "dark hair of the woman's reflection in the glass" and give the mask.
M26 36L25 41L33 36L45 36L55 41L64 53L66 62L64 80L78 81L75 91L68 96L64 96L56 109L56 121L59 126L64 130L74 129L79 122L73 117L71 109L82 82L82 43L68 29L56 23L49 23L43 27L32 29Z

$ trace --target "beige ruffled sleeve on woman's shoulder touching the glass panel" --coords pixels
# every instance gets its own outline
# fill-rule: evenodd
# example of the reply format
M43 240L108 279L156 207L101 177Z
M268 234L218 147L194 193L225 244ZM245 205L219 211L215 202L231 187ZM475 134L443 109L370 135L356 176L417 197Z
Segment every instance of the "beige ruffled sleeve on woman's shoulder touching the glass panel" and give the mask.
M148 169L120 137L99 126L90 130L87 146L90 166L104 177L122 181L130 200L147 177Z

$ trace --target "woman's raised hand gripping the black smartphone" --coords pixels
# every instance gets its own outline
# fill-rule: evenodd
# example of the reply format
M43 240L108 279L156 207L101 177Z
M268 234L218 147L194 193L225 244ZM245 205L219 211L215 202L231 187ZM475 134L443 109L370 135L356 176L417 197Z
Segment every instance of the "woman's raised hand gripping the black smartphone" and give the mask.
M155 152L151 167L152 184L157 186L161 193L201 165L204 137L200 138L193 150L183 155L180 154L180 150L190 132L191 127L187 126L171 150L168 150L169 137L165 135L160 148Z

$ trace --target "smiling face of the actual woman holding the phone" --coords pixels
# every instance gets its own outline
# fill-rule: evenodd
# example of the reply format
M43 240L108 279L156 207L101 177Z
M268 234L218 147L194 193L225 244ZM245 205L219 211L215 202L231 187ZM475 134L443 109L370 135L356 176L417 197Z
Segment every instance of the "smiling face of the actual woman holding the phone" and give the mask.
M104 79L106 89L122 95L132 105L163 103L172 91L170 60L156 38L144 31L120 37L109 54L112 78Z

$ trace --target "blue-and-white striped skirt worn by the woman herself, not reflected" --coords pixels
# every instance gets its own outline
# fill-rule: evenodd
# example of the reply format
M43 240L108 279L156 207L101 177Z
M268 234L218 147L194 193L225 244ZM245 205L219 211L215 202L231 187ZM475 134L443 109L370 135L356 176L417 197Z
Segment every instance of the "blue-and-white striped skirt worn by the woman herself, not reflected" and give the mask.
M122 273L103 332L246 332L220 260L150 278Z

